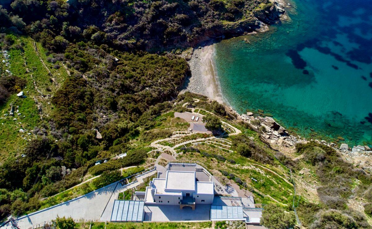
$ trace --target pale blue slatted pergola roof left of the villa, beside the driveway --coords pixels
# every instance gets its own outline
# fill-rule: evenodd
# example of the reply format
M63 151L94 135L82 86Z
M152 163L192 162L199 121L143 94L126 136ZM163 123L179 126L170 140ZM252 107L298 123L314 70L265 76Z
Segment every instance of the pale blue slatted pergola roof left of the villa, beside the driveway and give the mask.
M144 201L115 200L112 208L112 222L142 222Z

